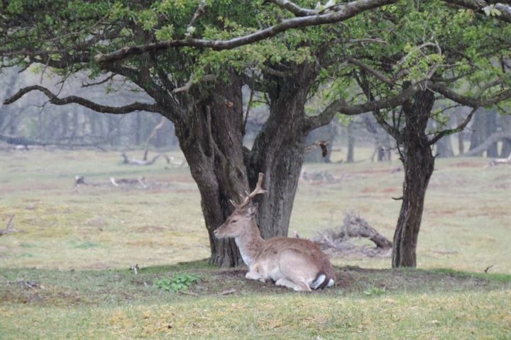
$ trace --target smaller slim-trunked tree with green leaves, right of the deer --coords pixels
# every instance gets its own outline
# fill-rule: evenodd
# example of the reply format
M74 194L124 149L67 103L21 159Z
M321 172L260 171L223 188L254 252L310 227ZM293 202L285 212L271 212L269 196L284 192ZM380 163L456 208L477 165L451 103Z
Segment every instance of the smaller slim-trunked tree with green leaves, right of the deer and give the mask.
M434 170L432 147L463 130L479 107L510 112L511 41L501 37L510 36L511 26L473 11L446 8L442 1L410 1L407 8L389 6L356 20L367 23L365 30L379 30L387 42L346 51L353 78L368 101L410 89L410 96L402 96L390 110L377 108L373 115L395 139L405 169L392 266L416 266L424 198ZM357 27L364 30L363 23ZM473 109L450 129L446 111L433 110L436 101ZM430 119L436 120L437 130L427 130Z

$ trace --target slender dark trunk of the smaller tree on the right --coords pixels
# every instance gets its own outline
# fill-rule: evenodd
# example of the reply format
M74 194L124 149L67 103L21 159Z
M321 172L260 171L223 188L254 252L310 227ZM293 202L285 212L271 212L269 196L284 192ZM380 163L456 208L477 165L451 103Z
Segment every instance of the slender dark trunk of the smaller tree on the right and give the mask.
M422 222L424 197L433 174L434 157L426 135L427 120L434 94L423 91L413 103L403 105L405 128L402 132L402 163L405 168L400 216L392 243L392 268L417 266L417 237Z

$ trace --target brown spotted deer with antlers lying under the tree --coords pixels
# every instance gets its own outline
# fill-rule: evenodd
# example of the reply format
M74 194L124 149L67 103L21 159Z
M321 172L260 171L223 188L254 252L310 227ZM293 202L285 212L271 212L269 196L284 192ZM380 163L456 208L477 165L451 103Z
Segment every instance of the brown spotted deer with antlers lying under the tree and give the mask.
M335 284L334 269L317 244L308 239L263 239L260 236L255 222L258 208L251 202L255 196L267 192L261 187L263 176L259 173L255 189L246 193L242 203L229 200L234 210L214 231L215 237L235 240L243 262L248 266L245 278L249 280L270 280L275 285L305 292L332 287Z

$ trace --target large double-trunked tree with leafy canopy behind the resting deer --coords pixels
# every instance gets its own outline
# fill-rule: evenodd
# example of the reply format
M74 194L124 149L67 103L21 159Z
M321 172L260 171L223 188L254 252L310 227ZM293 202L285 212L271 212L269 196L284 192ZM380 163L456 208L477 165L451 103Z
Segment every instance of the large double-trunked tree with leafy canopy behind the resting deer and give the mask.
M261 234L287 234L307 134L329 123L334 113L309 118L304 111L319 74L314 58L326 52L319 48L321 44L309 54L307 46L294 53L288 52L286 44L270 43L252 77L246 77L243 57L257 51L251 46L222 50L292 28L338 23L396 0L358 0L304 16L289 1L271 2L276 6L260 8L255 1L233 4L227 0L207 6L205 1L170 0L145 4L11 1L1 18L2 27L7 28L1 31L4 67L38 63L43 72L51 68L64 79L86 70L97 78L97 84L121 77L145 92L150 101L109 106L79 96L61 98L33 85L20 89L5 103L40 91L55 105L75 103L101 113L147 111L165 115L175 124L180 147L201 193L211 263L236 265L241 261L236 244L213 235L231 212L229 198L254 186L258 172L264 172L270 194L260 202ZM275 18L276 10L287 17ZM289 11L297 17L289 18ZM193 38L197 35L202 38ZM292 39L292 35L287 36L287 40ZM294 49L304 42L299 38L290 45ZM274 47L278 50L272 50ZM289 67L295 72L288 72ZM270 118L248 150L243 147L241 87L254 84L254 75L265 79L267 88L263 91L270 103Z

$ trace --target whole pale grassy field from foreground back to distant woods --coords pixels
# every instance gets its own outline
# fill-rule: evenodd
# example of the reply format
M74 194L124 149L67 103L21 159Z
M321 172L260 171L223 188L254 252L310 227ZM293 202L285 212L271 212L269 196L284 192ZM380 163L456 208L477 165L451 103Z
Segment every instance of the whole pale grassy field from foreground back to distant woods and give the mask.
M419 269L335 257L336 288L307 295L201 261L209 245L187 168L128 166L116 152L2 152L0 229L13 215L21 232L0 237L0 339L509 339L511 171L485 164L437 160ZM307 164L339 181L300 183L290 231L314 237L355 211L392 238L399 165ZM97 185L76 189L77 175ZM114 187L112 176L144 176L148 188ZM185 273L199 281L183 293L155 284Z

